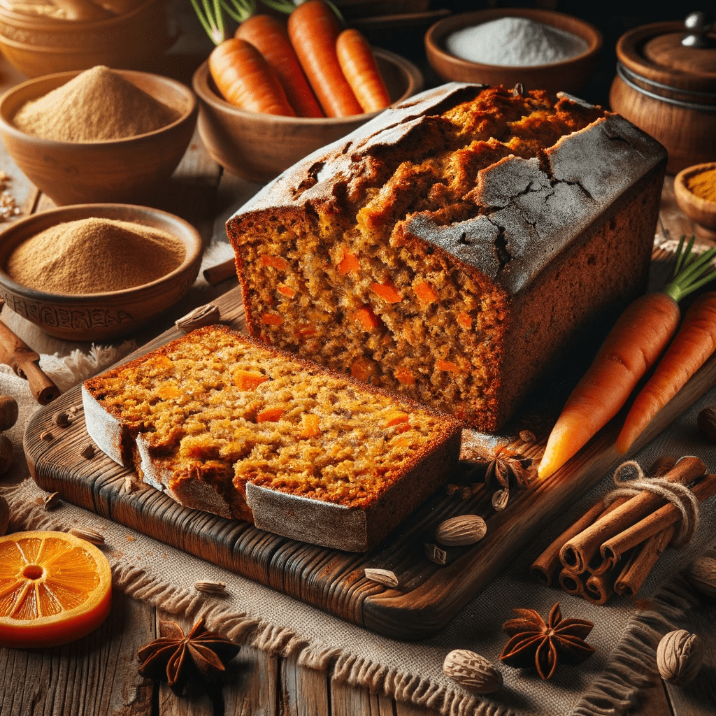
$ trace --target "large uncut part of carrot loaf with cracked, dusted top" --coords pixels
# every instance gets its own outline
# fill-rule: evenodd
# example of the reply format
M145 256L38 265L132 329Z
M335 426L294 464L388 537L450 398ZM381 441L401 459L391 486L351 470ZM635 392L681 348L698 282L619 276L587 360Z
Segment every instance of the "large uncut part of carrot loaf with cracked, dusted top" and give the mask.
M251 334L495 431L646 286L666 151L568 95L447 84L227 223Z

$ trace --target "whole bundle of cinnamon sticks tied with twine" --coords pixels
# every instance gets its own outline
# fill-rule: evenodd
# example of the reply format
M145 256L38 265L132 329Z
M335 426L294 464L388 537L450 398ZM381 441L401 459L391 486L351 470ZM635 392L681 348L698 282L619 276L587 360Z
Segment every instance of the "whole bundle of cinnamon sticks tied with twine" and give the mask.
M699 501L716 494L716 475L699 458L659 458L647 475L680 483ZM677 534L682 512L654 492L599 500L533 562L542 584L605 604L612 594L634 596Z

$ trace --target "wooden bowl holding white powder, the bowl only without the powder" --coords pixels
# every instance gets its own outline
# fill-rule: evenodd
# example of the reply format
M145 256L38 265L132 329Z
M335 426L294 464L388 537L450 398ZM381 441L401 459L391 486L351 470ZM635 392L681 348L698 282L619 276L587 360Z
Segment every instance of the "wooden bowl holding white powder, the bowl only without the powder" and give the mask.
M502 17L524 17L551 25L586 40L588 49L562 62L517 67L470 62L450 54L445 39L465 27L475 26ZM437 21L425 33L425 53L430 67L447 81L478 82L503 87L514 87L518 82L525 89L546 89L555 92L576 92L584 87L596 67L601 49L601 33L588 22L571 15L551 10L493 9L450 15Z

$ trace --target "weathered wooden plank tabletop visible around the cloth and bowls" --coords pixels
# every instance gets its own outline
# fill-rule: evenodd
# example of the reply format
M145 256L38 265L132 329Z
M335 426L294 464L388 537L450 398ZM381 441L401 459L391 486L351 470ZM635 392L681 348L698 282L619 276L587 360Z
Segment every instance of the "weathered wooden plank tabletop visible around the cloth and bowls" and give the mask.
M167 74L185 76L191 62L186 66L183 62L175 58L176 64ZM6 63L0 69L0 91L22 79ZM0 150L0 169L10 178L9 189L20 216L52 207L52 201L24 178L4 149ZM256 188L222 173L196 135L170 185L147 197L147 203L192 221L208 244L213 237L223 238L227 213ZM669 178L664 185L662 221L674 238L682 233L690 235L694 228L674 202ZM228 279L226 290L234 285ZM151 332L158 334L172 321L173 316L158 321ZM115 592L109 619L77 642L34 651L0 649L0 715L437 716L431 710L334 682L330 668L307 669L296 659L269 656L252 647L242 647L223 682L213 691L206 693L197 687L178 698L165 684L137 674L137 649L158 636L160 619L175 621L173 616ZM687 690L655 679L634 714L706 716L716 712L715 680L709 677L716 669L715 624L716 604L704 602L688 615L685 625L705 640L705 677Z

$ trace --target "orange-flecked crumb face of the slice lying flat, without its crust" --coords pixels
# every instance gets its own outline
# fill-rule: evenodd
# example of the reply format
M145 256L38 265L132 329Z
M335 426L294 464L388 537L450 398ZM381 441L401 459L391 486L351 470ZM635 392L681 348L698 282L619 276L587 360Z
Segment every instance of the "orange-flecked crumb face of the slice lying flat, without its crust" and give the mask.
M84 384L150 446L171 493L213 485L251 520L246 483L367 508L459 424L207 326ZM231 494L230 494L231 493Z

